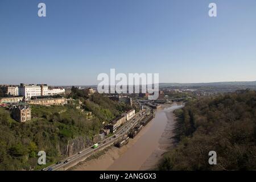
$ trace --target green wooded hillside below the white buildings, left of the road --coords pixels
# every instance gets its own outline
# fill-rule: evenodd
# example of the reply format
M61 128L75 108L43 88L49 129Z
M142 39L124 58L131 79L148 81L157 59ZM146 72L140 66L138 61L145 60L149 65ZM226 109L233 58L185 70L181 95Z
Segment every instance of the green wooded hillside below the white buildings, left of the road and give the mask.
M0 108L0 170L38 169L41 150L46 151L47 164L57 162L67 155L69 140L82 137L92 144L103 121L109 122L129 109L100 94L80 99L82 104L71 100L65 106L32 105L32 120L26 123L14 121L9 110ZM86 118L86 110L92 111L93 118Z

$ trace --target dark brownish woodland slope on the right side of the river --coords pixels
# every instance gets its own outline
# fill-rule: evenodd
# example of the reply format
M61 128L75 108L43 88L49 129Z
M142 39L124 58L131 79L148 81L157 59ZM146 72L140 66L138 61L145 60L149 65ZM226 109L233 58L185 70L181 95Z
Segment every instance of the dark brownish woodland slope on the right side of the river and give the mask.
M191 101L176 115L179 143L160 170L256 169L254 91ZM217 152L216 165L209 165L209 151Z

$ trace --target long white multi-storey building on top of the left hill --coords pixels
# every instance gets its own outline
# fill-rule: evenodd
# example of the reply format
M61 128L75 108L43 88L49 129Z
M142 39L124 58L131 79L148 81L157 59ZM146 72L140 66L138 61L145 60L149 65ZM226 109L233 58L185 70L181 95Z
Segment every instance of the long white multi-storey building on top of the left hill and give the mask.
M65 93L65 89L53 88L49 89L46 84L20 84L19 96L24 96L26 100L30 100L32 96L51 96L55 94Z

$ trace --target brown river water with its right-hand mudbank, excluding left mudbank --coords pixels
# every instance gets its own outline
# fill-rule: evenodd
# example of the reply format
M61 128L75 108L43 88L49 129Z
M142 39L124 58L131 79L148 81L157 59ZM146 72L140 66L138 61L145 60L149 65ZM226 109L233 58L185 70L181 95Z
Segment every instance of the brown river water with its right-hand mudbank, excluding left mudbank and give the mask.
M141 131L143 135L123 155L114 160L108 170L152 168L172 145L170 137L175 123L172 111L180 106L181 103L174 103L169 107L155 110L155 118Z

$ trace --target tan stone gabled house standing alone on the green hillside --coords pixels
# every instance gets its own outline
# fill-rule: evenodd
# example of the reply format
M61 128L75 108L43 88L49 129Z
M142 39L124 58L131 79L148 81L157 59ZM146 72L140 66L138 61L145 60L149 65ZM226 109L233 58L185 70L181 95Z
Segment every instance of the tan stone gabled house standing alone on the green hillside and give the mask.
M14 106L12 116L16 121L26 122L31 120L31 108L28 105Z

